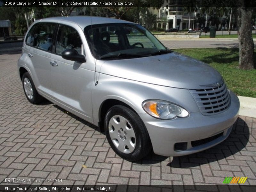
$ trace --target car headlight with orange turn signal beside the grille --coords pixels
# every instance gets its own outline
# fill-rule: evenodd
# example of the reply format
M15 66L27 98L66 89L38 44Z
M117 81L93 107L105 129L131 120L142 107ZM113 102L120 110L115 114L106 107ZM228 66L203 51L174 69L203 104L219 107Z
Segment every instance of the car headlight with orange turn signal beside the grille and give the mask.
M164 100L146 100L142 108L151 116L159 119L172 119L174 117L187 117L188 111L178 105Z

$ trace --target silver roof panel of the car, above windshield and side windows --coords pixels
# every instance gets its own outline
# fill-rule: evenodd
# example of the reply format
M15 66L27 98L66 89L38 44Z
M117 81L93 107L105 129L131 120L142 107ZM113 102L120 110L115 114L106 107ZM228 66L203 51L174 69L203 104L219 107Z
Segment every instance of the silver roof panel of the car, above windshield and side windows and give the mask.
M89 25L95 25L95 24L105 24L105 23L132 23L125 20L120 19L112 19L107 17L95 17L95 16L68 16L68 17L50 17L41 19L38 22L57 22L61 23L61 21L69 21L76 23L79 25L82 29L84 29L86 26Z

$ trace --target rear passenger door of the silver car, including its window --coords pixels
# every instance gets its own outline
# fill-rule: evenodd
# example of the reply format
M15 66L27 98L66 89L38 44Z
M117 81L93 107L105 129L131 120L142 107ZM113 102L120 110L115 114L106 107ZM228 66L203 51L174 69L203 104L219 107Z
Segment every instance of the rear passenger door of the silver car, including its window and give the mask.
M28 55L26 64L31 71L32 78L38 91L52 94L51 92L51 49L53 36L57 28L56 23L37 23L32 34L28 34L24 52Z

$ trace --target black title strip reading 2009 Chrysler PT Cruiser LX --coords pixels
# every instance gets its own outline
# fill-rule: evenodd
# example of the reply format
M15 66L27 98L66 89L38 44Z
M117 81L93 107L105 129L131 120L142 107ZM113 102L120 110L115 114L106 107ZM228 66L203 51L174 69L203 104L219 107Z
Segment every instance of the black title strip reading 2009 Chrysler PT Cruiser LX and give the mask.
M154 0L0 0L0 7L158 7ZM256 7L255 0L169 0L170 7Z

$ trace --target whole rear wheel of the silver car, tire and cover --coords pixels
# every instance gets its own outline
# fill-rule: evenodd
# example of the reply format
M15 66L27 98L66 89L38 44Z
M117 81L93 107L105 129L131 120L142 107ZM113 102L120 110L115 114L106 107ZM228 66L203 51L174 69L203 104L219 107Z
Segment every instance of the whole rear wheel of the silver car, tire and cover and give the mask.
M35 84L28 72L22 76L22 86L28 101L32 104L40 103L44 98L36 91Z

